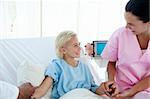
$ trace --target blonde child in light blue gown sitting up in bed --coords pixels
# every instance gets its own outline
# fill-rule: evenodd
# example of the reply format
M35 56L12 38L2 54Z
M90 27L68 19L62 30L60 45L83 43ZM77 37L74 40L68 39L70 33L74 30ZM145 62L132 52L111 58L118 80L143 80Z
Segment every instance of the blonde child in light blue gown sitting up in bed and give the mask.
M52 86L51 99L58 99L65 93L85 88L94 93L104 93L105 84L98 87L91 75L88 66L77 58L80 57L80 43L72 31L64 31L56 38L56 54L58 59L52 60L45 71L45 79L35 90L32 98L40 98Z

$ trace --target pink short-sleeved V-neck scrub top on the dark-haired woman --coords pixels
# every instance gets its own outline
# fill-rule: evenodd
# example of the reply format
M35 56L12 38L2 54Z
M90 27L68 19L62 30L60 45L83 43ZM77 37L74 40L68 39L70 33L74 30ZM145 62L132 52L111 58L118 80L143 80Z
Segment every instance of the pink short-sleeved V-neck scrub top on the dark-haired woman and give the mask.
M124 27L111 36L102 57L117 62L116 83L121 91L150 75L150 41L143 54L136 35Z

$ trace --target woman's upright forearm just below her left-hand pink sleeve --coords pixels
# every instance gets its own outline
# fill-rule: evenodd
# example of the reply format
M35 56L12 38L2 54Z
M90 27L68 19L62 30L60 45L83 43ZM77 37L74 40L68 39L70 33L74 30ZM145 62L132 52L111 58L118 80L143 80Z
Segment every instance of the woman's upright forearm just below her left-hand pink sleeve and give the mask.
M108 72L108 80L114 81L114 76L116 74L116 62L108 62L107 72Z

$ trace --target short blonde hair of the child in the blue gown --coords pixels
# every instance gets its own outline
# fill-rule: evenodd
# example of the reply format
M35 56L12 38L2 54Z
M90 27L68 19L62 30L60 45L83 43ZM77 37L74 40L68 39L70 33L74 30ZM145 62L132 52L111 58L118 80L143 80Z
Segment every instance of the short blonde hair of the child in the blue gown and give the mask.
M63 58L63 53L60 52L60 49L74 36L76 36L76 34L72 31L63 31L56 37L55 49L56 55L59 58Z

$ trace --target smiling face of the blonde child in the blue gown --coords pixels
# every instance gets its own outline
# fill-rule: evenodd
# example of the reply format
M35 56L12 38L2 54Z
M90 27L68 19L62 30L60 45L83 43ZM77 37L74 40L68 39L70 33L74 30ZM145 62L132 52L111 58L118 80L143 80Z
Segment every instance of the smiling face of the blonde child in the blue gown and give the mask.
M72 37L63 47L64 57L79 58L80 51L80 43L76 36Z

